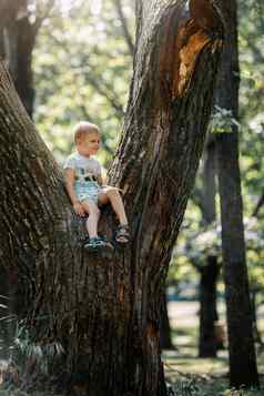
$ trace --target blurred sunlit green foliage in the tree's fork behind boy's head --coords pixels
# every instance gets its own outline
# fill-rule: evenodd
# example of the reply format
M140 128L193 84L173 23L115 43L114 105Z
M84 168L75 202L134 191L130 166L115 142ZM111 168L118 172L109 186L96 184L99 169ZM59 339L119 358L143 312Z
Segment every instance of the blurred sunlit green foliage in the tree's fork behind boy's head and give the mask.
M74 2L63 18L57 9L43 23L34 51L34 120L60 162L72 151L72 129L80 120L102 130L104 163L120 136L132 57L114 3L94 4ZM131 12L129 1L124 12Z

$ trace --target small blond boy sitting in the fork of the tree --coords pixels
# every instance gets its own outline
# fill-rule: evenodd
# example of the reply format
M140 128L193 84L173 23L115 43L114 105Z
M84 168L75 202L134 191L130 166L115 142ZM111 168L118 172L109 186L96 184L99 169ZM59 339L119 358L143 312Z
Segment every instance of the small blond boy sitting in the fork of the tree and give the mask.
M114 236L115 242L126 244L130 233L123 201L118 189L102 185L101 165L92 158L100 149L99 128L90 122L80 122L75 126L74 142L77 152L65 161L64 179L75 213L80 216L89 215L85 223L89 242L84 247L97 250L109 246L109 243L98 235L99 206L108 202L111 203L120 222Z

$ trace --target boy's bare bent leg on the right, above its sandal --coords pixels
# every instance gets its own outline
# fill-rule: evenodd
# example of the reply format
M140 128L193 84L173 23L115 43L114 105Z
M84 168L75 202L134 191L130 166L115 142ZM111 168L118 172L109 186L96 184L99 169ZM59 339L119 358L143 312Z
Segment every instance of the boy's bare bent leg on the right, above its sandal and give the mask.
M128 225L128 219L124 211L124 204L119 190L115 187L104 187L99 194L99 203L104 205L110 201L121 225Z

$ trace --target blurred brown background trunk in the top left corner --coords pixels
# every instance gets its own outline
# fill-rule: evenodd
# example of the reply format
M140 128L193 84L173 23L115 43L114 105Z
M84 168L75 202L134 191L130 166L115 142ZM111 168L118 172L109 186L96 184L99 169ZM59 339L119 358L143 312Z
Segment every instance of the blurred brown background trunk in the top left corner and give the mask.
M1 54L8 62L16 89L29 115L33 114L32 52L38 31L55 0L1 0Z

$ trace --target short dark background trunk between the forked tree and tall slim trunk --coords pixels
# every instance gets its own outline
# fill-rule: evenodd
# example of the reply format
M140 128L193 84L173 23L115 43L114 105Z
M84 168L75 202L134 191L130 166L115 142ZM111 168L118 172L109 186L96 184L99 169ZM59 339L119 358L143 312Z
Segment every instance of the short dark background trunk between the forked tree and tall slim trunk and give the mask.
M207 256L207 263L201 268L200 286L200 339L199 357L215 357L217 352L215 337L216 282L220 273L217 257Z

